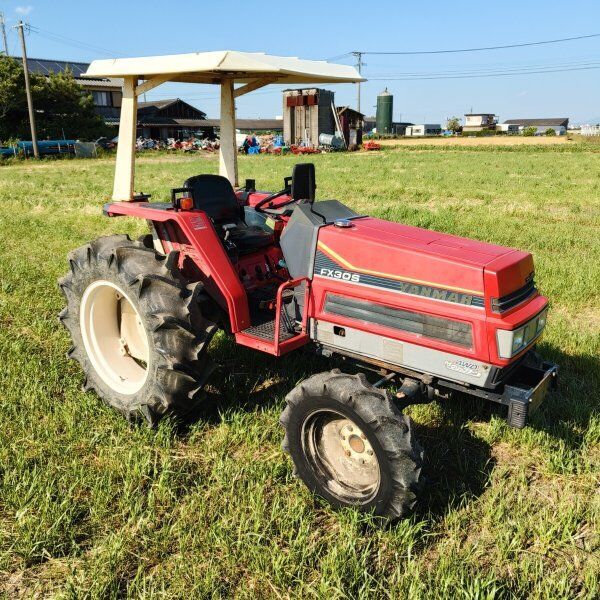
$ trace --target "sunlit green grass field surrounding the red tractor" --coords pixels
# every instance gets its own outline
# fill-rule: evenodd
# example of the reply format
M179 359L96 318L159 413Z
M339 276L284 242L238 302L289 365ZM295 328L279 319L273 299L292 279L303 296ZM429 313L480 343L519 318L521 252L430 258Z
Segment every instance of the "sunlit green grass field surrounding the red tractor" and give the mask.
M240 160L279 189L297 159ZM129 425L65 358L67 252L144 224L107 219L114 163L0 166L0 595L6 597L597 598L600 595L600 153L584 145L324 155L318 196L359 212L532 251L552 312L541 352L561 385L509 429L457 398L409 413L427 485L380 529L335 512L280 450L283 398L331 368L217 336L197 419ZM138 190L217 162L144 157Z

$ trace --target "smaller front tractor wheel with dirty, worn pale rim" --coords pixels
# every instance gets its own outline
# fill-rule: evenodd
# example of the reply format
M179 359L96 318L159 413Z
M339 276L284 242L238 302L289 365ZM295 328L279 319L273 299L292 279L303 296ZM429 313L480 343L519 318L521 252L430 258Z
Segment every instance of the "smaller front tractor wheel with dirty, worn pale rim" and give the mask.
M387 519L412 509L423 450L388 392L336 369L303 381L286 402L282 446L313 493Z

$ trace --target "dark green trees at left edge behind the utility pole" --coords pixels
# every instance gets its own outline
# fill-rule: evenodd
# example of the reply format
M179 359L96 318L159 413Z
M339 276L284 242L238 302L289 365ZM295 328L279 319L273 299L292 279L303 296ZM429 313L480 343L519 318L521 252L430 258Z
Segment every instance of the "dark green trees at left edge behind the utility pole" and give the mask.
M95 139L106 132L94 113L91 94L75 81L72 73L30 74L38 138ZM0 57L0 140L31 139L25 77L17 60Z

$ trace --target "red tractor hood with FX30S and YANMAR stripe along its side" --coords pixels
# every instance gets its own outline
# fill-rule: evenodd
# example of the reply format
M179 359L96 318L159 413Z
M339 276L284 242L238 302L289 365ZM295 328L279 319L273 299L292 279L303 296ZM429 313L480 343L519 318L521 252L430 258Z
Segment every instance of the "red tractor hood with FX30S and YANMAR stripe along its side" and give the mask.
M350 223L320 228L315 275L477 307L532 279L526 252L372 217Z

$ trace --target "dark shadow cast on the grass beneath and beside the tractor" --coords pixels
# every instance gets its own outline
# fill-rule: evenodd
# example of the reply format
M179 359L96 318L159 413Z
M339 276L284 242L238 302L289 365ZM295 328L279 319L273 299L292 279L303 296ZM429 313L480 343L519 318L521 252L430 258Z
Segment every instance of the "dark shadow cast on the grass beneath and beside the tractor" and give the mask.
M231 412L251 413L283 407L285 395L313 373L339 367L355 372L344 361L332 361L310 353L291 353L274 358L219 340L215 360L221 367L211 377L202 402L183 424L180 434L194 422L217 425ZM547 431L577 449L592 413L598 408L594 390L600 387L600 361L589 355L544 352L561 366L561 388L553 392L534 414L529 426ZM235 358L231 358L231 357ZM371 381L376 375L369 375ZM439 424L416 424L425 450L424 487L417 516L441 519L448 512L476 500L486 489L496 464L490 444L466 427L469 421L489 422L492 415L506 416L506 407L457 395L439 405Z

